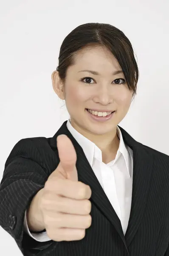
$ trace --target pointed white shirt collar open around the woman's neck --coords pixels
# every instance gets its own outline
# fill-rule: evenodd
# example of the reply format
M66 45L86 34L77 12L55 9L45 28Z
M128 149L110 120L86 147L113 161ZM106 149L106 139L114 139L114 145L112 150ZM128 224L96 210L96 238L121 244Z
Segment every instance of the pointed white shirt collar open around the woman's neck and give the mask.
M91 140L87 139L85 136L80 134L78 131L76 131L75 128L70 123L70 119L68 119L67 122L67 128L70 131L70 133L73 135L75 140L79 143L79 145L82 147L85 156L90 163L90 166L93 164L93 158L96 157L99 161L102 161L102 155L101 155L101 150L98 148L95 143L93 143ZM117 134L118 138L120 140L120 144L118 147L117 154L115 156L115 159L110 162L112 165L119 159L119 157L123 156L126 166L127 166L127 172L129 176L131 177L131 169L130 169L130 155L127 150L127 146L124 144L124 140L121 134L120 128L117 126Z

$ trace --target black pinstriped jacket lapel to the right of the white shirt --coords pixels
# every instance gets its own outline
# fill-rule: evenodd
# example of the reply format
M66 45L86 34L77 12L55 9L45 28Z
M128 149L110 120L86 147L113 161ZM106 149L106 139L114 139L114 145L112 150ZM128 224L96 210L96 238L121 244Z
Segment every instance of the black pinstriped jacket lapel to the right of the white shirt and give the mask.
M130 218L125 234L127 247L132 242L144 214L152 175L153 157L146 146L135 141L119 127L126 143L133 150L133 183Z

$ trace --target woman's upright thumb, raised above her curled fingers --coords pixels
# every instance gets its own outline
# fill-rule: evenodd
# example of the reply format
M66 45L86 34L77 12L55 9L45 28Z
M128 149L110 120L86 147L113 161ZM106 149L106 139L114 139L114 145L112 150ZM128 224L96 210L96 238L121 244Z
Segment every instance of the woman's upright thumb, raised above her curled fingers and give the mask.
M78 181L76 151L71 140L65 134L57 137L57 148L60 159L58 171L62 172L67 179Z

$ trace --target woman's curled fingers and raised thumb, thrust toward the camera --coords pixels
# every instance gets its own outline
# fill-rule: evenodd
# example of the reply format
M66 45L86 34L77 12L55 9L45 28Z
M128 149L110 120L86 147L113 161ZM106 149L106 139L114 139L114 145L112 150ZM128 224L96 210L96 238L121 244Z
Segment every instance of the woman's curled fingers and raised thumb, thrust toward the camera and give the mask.
M60 163L39 199L43 224L54 241L81 240L91 225L91 189L78 181L76 151L66 135L57 137L57 148Z

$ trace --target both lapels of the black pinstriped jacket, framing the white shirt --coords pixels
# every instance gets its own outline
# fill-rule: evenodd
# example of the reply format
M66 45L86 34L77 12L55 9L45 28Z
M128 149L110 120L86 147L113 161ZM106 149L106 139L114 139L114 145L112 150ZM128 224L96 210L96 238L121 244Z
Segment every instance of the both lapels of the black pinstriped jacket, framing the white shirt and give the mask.
M96 175L93 172L82 147L77 143L72 134L68 131L65 121L61 128L56 132L51 140L52 146L56 150L56 137L60 134L66 134L72 141L77 154L76 168L78 170L78 179L90 186L92 195L90 200L100 209L100 211L113 224L124 244L127 247L130 245L138 226L146 205L146 198L149 190L149 182L152 172L152 157L147 154L146 148L141 143L136 142L123 128L121 130L124 143L133 150L133 185L132 185L132 205L130 212L129 224L127 232L124 233L121 227L121 221L118 218L114 208L110 204L107 195L104 193ZM58 152L55 151L57 157Z

